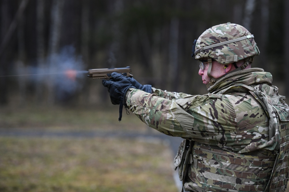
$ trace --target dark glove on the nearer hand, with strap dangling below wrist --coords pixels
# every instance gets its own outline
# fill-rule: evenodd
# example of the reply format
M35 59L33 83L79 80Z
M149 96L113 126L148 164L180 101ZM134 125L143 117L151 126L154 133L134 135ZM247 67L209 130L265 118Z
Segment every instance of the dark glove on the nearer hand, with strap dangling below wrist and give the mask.
M125 104L125 93L129 88L135 87L131 84L127 77L116 72L111 74L111 79L109 81L103 79L102 84L108 88L111 103L114 105L120 105L118 120L121 121L123 104Z

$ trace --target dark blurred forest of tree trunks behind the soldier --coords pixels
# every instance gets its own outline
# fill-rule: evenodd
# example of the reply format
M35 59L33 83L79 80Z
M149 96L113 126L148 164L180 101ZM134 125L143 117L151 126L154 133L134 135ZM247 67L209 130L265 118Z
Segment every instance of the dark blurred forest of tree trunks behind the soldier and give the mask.
M142 84L207 92L191 58L207 28L238 23L260 49L253 67L289 96L286 0L1 0L0 104L110 104L88 69L130 66ZM67 70L77 70L67 76ZM32 75L28 75L32 74Z

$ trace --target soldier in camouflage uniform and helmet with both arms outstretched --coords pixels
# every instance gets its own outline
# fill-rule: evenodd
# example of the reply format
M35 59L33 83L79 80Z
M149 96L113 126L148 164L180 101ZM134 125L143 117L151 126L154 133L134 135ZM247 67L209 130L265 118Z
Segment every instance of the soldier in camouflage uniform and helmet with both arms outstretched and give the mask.
M112 73L103 80L112 103L184 138L174 165L186 191L284 191L289 107L271 73L251 68L259 55L254 36L238 24L219 24L195 40L192 51L208 94L163 91Z

